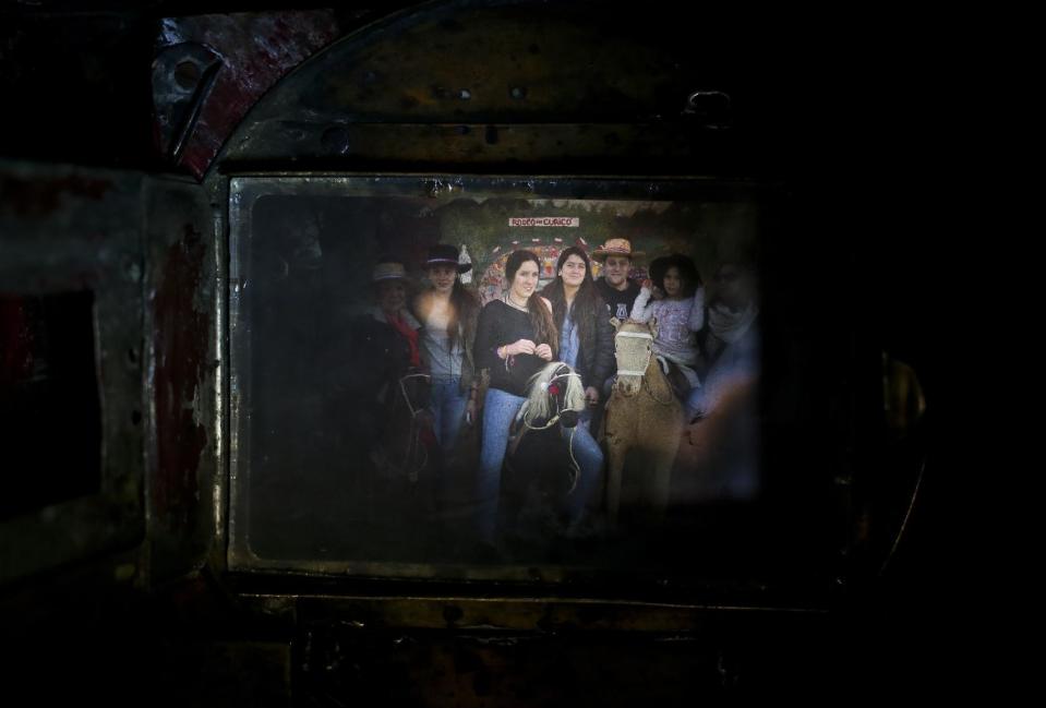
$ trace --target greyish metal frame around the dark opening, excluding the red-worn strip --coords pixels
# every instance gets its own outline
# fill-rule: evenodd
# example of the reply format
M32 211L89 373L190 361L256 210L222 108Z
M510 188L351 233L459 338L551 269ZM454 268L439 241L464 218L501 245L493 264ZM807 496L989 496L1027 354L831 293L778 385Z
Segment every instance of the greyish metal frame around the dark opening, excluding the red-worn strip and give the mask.
M127 548L144 533L143 179L64 166L0 165L0 291L93 293L103 430L100 493L3 524L0 579Z

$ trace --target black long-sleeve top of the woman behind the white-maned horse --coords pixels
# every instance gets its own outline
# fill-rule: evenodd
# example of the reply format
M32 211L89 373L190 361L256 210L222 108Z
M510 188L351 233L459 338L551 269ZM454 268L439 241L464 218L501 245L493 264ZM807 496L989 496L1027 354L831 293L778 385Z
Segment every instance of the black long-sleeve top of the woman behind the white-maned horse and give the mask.
M516 396L526 396L527 381L549 362L536 355L516 355L507 362L498 358L498 347L518 339L530 339L536 345L550 344L534 339L533 325L528 313L501 300L488 302L476 325L476 365L479 369L490 369L491 386L494 388Z

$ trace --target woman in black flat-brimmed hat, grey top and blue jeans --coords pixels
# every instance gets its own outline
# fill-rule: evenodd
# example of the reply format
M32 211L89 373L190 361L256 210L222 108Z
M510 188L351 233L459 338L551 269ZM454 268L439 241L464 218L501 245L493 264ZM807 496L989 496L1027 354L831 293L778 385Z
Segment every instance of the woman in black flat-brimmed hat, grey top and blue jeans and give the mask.
M422 324L421 355L431 375L432 429L445 453L454 449L462 420L471 423L476 416L479 382L472 346L480 303L458 277L471 267L458 263L453 245L433 245L425 261L431 286L414 300Z

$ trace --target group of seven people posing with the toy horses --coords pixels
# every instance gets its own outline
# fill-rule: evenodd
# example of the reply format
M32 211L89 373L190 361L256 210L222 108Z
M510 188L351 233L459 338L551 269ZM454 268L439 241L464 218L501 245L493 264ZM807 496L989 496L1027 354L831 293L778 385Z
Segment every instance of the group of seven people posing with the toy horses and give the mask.
M627 239L610 239L591 257L602 262L592 277L589 254L564 249L555 279L538 290L541 263L527 250L505 264L507 289L480 305L460 275L457 249L436 244L424 269L429 285L408 299L404 265L389 259L374 269L375 319L396 329L410 364L430 376L429 412L437 444L452 451L462 425L482 422L477 478L478 533L493 540L502 466L513 421L524 405L531 376L551 361L569 364L581 379L587 404L581 423L567 433L577 463L568 517L579 524L596 503L603 453L596 440L598 420L616 374L612 319L657 320L653 351L681 382L688 420L707 415L717 392L732 376L757 368L758 313L754 274L742 263L724 263L716 274L716 297L708 303L694 262L680 254L656 259L649 279L632 280L633 260L641 257ZM481 371L489 372L483 400Z

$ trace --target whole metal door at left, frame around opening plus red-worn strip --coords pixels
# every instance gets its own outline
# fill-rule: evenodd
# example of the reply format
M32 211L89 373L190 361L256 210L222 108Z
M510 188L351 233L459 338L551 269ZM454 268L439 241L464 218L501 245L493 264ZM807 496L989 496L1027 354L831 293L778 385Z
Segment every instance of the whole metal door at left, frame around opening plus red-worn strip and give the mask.
M0 196L0 290L93 293L103 456L100 493L3 525L3 578L135 544L146 517L156 552L140 569L184 573L215 536L215 259L204 192L134 172L4 164Z

